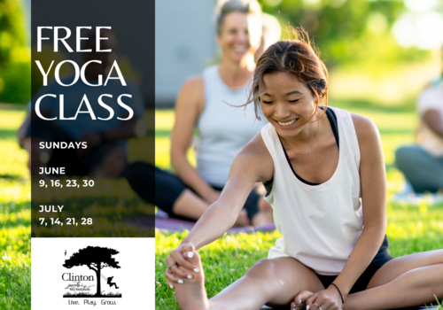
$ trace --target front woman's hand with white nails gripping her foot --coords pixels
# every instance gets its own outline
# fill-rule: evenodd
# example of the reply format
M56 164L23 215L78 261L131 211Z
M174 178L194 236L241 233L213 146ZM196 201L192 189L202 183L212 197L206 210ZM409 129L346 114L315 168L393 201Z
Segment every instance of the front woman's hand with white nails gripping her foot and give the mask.
M185 259L185 257L192 258L194 252L195 247L193 244L180 244L165 259L167 263L165 276L167 277L167 285L171 289L177 283L183 284L184 279L192 279L192 274L197 274L200 271L197 266Z

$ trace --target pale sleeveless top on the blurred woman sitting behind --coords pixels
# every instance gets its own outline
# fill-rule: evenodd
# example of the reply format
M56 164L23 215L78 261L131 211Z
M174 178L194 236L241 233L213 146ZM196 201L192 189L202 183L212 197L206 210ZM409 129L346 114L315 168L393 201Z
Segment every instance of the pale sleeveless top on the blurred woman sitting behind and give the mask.
M255 118L253 104L244 107L250 84L229 88L220 77L218 66L203 72L205 108L198 123L195 143L197 169L211 185L224 186L237 154L268 123L264 116ZM228 105L229 104L229 105Z

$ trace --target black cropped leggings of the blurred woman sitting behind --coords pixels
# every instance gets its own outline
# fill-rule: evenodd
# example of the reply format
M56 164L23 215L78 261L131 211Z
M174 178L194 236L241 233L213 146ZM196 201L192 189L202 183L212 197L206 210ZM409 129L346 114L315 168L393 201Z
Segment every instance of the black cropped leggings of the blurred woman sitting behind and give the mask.
M189 187L175 174L170 174L149 163L138 161L128 166L126 178L131 188L150 204L157 205L170 217L181 220L190 220L175 214L173 211L173 206L177 198L182 195L183 190L189 189ZM155 188L152 188L153 180L155 180ZM211 186L214 190L223 189L218 186ZM244 208L250 221L252 221L254 215L259 212L259 199L260 195L256 190L253 190L246 199Z

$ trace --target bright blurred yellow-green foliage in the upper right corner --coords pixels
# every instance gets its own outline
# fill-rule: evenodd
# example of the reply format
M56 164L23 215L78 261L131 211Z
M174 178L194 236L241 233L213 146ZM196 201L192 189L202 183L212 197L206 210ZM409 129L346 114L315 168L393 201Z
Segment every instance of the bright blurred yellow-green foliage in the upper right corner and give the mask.
M264 9L315 37L332 101L412 107L441 74L440 0L265 0Z

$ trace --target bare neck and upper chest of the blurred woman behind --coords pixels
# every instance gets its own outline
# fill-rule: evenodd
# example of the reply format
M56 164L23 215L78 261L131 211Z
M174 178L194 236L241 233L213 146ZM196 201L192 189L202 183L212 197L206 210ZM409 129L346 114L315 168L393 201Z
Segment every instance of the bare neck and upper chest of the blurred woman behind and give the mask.
M219 66L219 74L221 80L226 85L230 88L237 88L244 86L249 81L254 67L253 54L247 54L240 62L229 61L229 59L223 58Z

